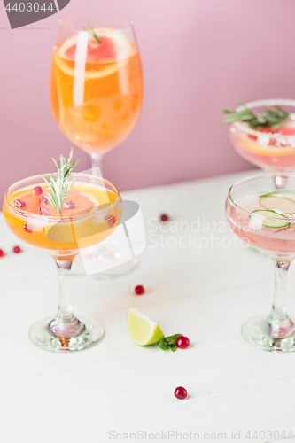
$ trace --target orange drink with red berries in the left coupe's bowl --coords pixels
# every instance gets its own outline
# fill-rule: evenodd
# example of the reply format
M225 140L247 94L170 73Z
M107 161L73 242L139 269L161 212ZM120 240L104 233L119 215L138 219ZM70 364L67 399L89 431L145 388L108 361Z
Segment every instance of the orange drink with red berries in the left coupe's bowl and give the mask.
M41 177L32 177L31 181L34 184L28 187L20 184L8 191L4 202L5 221L15 236L47 249L59 260L63 256L74 260L80 249L109 237L120 221L122 208L116 201L118 196L113 190L90 183L96 181L91 175L78 176L60 215L46 198L49 188L41 182ZM35 189L42 191L36 194Z

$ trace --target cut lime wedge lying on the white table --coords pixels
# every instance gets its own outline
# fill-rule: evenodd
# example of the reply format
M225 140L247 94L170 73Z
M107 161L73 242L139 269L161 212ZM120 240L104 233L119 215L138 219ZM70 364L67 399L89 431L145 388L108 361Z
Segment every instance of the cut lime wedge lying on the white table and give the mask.
M129 336L138 346L154 345L165 337L158 323L133 308L128 310L127 325Z

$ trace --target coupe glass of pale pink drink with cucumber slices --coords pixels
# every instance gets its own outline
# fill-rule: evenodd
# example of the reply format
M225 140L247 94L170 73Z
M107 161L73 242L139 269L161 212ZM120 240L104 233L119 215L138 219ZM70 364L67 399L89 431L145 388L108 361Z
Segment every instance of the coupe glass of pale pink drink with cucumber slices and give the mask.
M267 351L295 351L295 326L287 315L285 284L295 257L295 175L284 174L284 190L276 174L253 176L229 189L226 218L237 237L266 253L275 263L275 299L268 317L246 322L242 335Z

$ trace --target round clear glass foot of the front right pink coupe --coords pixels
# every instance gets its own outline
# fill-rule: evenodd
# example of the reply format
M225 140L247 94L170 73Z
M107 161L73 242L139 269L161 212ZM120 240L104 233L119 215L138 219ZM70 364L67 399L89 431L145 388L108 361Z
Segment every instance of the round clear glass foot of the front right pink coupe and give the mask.
M250 345L271 352L291 353L295 351L295 331L292 330L288 337L273 338L270 335L270 324L267 316L252 318L242 326L242 337Z

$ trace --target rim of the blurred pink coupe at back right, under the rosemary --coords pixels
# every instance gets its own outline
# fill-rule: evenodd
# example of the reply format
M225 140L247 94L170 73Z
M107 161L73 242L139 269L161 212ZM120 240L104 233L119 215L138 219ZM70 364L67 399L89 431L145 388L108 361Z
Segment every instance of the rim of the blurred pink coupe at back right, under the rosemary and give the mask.
M243 111L245 107L252 109L254 107L259 106L293 106L294 107L294 114L295 114L295 100L292 100L291 98L267 98L262 100L255 100L252 102L245 103L244 105L239 105L236 108L236 111ZM232 126L236 127L238 130L245 132L246 134L250 134L252 136L261 136L261 134L268 136L268 133L261 133L261 131L258 131L256 129L249 128L245 123L241 123L240 121L234 121L231 123ZM295 141L295 135L294 136L283 136L282 134L271 134L271 138L275 138L276 140L279 138L284 138L285 140L292 140ZM286 148L290 148L290 146L286 146ZM277 149L277 146L269 146L268 149ZM284 146L282 146L282 149L284 149Z

